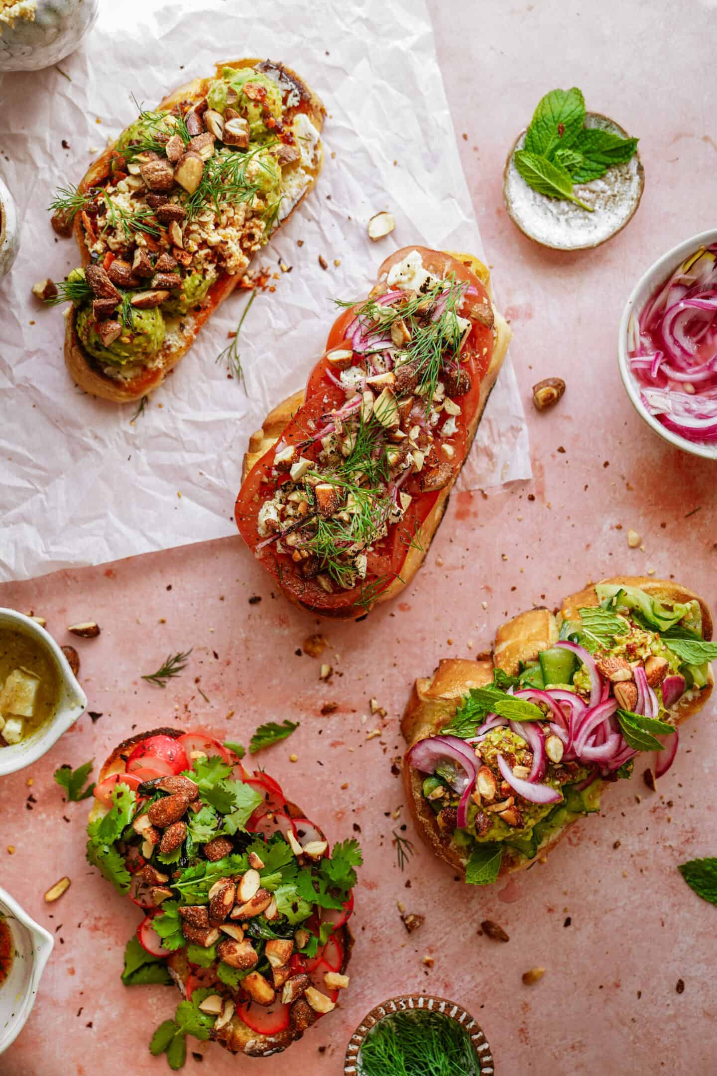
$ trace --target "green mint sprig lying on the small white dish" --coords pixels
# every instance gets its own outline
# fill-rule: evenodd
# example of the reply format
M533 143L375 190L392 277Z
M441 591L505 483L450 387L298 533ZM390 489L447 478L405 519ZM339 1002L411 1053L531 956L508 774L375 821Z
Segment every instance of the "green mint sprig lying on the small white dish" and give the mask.
M630 160L636 138L585 127L585 98L577 86L551 89L539 103L515 167L526 183L549 198L567 199L592 212L573 194L573 183L599 180L614 165Z

